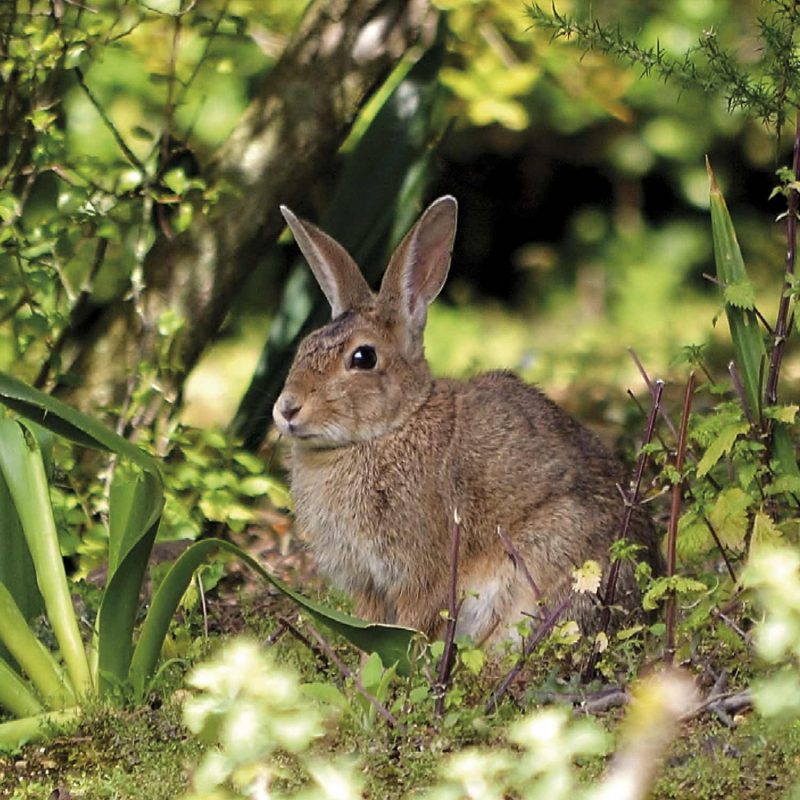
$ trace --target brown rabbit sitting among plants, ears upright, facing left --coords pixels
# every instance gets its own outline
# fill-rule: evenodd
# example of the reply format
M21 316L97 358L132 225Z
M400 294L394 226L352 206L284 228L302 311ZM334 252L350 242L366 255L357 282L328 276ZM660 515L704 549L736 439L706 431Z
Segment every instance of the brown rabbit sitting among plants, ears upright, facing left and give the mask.
M559 601L587 559L607 573L623 471L599 440L511 373L431 376L423 329L450 265L455 199L436 200L406 234L377 295L340 244L281 211L333 319L300 344L273 417L291 441L299 524L356 613L440 633L455 513L458 632L476 641L508 635L537 601ZM657 563L645 514L634 514L629 538ZM629 564L617 586L617 601L634 608ZM570 616L591 629L597 605L581 595Z

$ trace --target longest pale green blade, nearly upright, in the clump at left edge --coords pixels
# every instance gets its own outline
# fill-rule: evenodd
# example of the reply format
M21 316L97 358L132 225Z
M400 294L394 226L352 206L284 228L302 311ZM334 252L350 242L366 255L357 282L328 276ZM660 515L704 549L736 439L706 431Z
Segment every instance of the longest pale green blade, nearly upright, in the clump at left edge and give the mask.
M79 697L93 690L58 544L44 464L36 437L22 423L0 419L0 470L17 509L36 569L47 618Z

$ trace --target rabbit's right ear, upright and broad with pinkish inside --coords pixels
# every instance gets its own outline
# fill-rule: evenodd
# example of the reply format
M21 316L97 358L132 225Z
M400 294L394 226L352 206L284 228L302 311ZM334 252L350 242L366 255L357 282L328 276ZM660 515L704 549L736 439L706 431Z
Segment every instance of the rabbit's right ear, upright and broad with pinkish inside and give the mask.
M394 251L383 277L379 303L391 315L401 312L412 340L422 333L428 304L447 278L457 212L455 197L434 200Z

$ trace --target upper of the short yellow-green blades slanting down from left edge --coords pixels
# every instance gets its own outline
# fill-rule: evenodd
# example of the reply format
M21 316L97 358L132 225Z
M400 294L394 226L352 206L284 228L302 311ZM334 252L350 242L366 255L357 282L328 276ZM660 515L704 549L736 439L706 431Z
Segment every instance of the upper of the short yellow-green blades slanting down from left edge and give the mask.
M11 592L2 583L0 641L8 648L48 708L63 708L75 702L75 696L64 684L53 656L33 635ZM30 713L28 711L18 716L28 716Z

